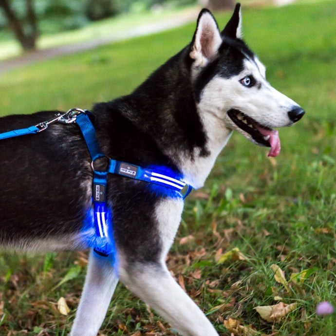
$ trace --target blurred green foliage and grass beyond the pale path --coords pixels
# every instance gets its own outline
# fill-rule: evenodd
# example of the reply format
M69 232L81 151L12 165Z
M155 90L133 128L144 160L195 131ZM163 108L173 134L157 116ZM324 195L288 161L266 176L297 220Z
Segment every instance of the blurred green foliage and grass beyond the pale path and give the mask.
M27 19L27 1L1 0L0 8L7 3L24 26ZM34 5L39 34L53 34L84 27L90 21L106 19L123 13L141 12L160 7L176 7L197 3L197 0L31 0ZM2 8L3 9L3 8ZM8 17L0 11L0 39L12 38Z

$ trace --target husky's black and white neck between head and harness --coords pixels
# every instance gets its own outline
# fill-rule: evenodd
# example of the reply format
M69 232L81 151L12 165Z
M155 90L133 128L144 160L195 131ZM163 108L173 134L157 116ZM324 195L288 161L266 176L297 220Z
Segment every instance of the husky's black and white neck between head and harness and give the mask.
M185 182L199 188L231 131L223 133L218 120L196 106L187 53L186 48L169 59L118 105L119 111L179 168Z

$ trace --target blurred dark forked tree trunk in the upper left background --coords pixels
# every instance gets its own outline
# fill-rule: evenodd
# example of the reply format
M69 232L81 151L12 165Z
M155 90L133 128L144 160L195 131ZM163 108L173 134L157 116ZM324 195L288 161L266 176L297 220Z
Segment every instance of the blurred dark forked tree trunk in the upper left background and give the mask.
M25 6L26 17L20 20L11 8L10 1L0 0L0 8L2 8L8 21L9 29L13 31L23 50L31 51L36 49L36 40L38 37L34 0L25 0Z

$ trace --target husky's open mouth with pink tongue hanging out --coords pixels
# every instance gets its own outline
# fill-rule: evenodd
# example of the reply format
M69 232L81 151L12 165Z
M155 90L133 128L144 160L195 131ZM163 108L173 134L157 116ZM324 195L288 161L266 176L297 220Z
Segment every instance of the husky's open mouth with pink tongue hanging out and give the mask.
M231 109L227 112L231 120L243 131L251 135L252 139L261 146L270 147L268 156L277 156L280 153L280 139L278 131L261 125L243 112Z

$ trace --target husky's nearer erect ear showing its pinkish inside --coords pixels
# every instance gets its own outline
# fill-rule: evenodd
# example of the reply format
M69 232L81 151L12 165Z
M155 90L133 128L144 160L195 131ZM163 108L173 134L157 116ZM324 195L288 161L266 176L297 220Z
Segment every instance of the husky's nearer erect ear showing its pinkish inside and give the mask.
M221 44L222 37L216 20L210 11L202 9L192 39L190 57L196 65L204 66L216 55Z

